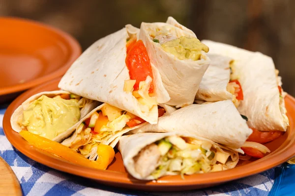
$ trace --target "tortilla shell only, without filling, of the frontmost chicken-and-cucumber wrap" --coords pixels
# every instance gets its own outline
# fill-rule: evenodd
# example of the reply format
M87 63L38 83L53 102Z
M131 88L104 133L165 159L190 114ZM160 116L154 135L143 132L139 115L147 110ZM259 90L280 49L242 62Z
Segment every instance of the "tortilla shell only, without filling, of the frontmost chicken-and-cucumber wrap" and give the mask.
M159 141L165 137L168 136L183 136L183 137L190 137L198 141L207 141L213 145L213 147L216 148L222 148L223 150L227 150L231 152L231 158L232 161L228 161L226 165L232 169L236 167L236 164L238 162L238 153L230 148L220 146L210 140L197 137L197 136L192 136L186 133L176 133L176 132L171 132L171 133L139 133L139 134L134 134L134 135L126 135L122 136L119 140L118 143L118 149L122 155L123 163L127 171L135 178L141 179L141 180L153 180L154 177L152 175L149 175L146 178L143 178L138 172L136 172L135 167L134 167L134 160L133 158L140 152L141 149L144 147Z

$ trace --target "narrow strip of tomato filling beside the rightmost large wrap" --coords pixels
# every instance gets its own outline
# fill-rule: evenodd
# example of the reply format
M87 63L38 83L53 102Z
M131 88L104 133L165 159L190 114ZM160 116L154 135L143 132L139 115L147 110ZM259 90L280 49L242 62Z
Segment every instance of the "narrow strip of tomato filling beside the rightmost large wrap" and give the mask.
M238 75L236 73L235 62L230 62L230 82L227 85L227 91L233 95L233 103L235 104L236 108L239 106L240 101L243 100L243 90L238 81Z

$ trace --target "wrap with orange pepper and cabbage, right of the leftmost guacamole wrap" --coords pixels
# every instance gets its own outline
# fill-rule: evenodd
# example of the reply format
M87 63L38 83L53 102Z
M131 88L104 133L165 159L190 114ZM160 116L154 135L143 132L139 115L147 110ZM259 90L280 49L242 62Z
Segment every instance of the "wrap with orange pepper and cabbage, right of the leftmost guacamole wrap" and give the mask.
M71 130L73 134L61 144L80 152L90 160L95 160L99 144L115 147L121 135L143 125L130 128L127 123L133 116L104 103L76 123Z

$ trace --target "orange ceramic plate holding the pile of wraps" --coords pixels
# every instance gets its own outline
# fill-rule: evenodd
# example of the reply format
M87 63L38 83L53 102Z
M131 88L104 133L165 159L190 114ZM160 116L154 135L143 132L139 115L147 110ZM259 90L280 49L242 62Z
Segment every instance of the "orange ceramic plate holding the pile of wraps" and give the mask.
M23 101L25 101L30 96L42 91L57 90L58 83L59 79L55 79L52 82L31 89L15 99L5 112L3 128L7 139L19 151L41 164L63 172L91 178L99 181L100 183L121 188L170 192L210 187L225 183L227 181L253 175L273 168L295 155L295 98L288 95L286 97L286 107L288 110L288 117L290 119L290 127L288 131L277 140L266 144L266 146L271 150L271 153L266 155L266 157L253 162L239 162L238 166L231 170L194 174L185 176L184 180L179 175L177 175L161 177L157 181L141 181L126 173L122 163L121 155L118 151L115 155L116 158L106 171L74 165L52 154L30 146L29 143L20 136L20 134L12 130L10 125L10 117L13 111Z

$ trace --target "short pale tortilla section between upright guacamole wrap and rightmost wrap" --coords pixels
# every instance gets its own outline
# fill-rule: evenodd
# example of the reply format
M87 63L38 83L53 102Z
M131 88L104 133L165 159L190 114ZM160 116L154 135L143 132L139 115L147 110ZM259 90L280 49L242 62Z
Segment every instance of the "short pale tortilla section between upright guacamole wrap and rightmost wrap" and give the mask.
M231 75L230 62L233 59L211 52L207 56L211 63L202 78L196 99L210 102L232 99L233 95L227 91L227 85Z

